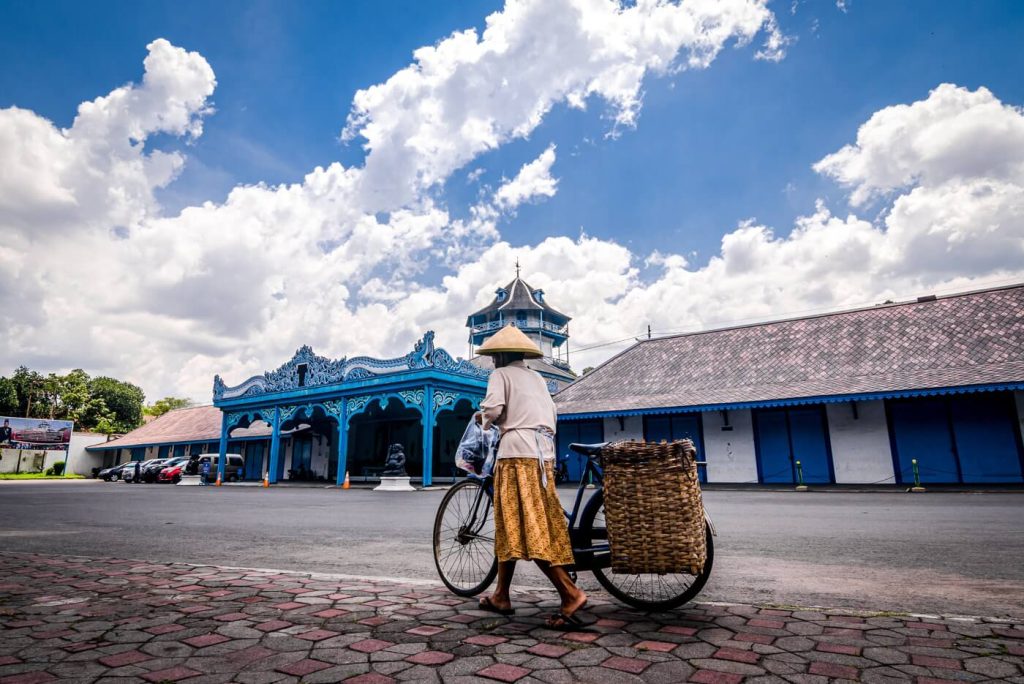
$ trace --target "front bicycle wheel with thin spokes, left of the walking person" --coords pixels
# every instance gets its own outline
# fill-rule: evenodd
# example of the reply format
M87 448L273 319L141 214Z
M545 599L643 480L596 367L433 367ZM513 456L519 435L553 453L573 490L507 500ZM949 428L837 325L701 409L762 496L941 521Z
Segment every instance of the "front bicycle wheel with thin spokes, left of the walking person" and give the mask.
M490 495L466 479L444 495L434 518L434 565L444 586L475 596L498 574Z

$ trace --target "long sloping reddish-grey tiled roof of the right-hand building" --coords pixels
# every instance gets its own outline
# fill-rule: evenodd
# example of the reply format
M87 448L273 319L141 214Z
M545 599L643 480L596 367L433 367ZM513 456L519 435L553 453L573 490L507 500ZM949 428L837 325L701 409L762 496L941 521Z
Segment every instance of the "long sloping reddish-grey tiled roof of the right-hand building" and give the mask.
M555 395L585 414L1024 382L1024 286L645 340Z

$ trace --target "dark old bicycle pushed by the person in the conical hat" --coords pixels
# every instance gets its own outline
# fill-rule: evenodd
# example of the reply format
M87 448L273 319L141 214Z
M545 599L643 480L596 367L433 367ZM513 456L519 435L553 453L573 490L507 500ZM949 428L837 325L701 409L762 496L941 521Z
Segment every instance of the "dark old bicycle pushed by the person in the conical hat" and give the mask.
M700 574L628 574L611 569L611 551L604 523L604 473L598 463L600 444L569 444L586 457L568 519L574 563L570 570L589 570L620 601L643 610L668 610L683 605L700 593L715 559L715 527L705 514L708 559ZM698 462L705 465L705 462ZM594 494L583 505L587 483L595 483ZM581 510L581 506L583 506ZM494 479L469 475L444 495L434 518L434 565L441 582L458 596L475 596L490 586L498 574L495 556Z

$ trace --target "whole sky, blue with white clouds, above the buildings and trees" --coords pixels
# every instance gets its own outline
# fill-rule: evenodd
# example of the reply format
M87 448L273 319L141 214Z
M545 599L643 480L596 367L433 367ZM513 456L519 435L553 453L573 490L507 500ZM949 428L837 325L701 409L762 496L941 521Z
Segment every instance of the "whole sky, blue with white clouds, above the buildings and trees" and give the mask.
M1022 282L1022 39L1014 0L0 0L0 374L466 355L517 259L578 371Z

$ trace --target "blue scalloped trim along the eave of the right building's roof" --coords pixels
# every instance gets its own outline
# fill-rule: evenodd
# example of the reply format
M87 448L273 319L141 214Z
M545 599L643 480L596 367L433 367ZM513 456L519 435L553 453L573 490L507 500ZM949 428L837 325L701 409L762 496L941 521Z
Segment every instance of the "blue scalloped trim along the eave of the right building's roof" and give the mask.
M999 383L994 385L962 385L958 387L931 387L927 389L901 389L888 392L861 392L857 394L822 394L802 396L793 399L767 399L764 401L737 401L734 403L705 403L689 407L655 407L652 409L628 409L625 411L596 411L582 414L558 414L560 421L580 421L592 418L615 418L618 416L655 416L658 414L703 413L707 411L728 411L733 409L771 409L775 407L796 407L805 403L840 403L842 401L870 401L874 399L898 399L913 396L938 396L942 394L968 394L971 392L1005 392L1024 390L1024 382Z

